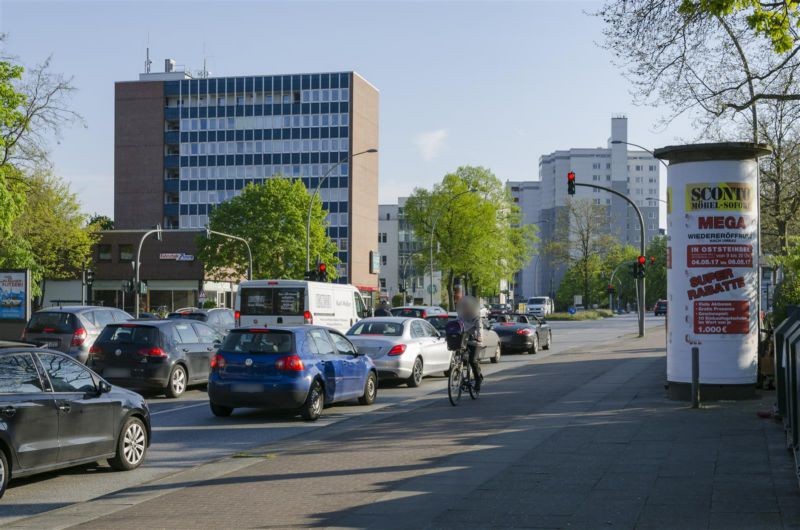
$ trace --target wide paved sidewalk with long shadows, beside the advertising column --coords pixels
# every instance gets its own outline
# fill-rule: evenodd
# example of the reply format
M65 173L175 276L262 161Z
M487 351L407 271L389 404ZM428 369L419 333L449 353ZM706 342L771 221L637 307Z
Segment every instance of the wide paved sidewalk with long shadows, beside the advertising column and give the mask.
M79 527L800 529L782 430L756 415L772 393L701 410L668 401L663 344L658 328L541 359L487 379L478 401L454 408L437 393L322 440L240 455L252 465L177 491L92 501L118 511Z

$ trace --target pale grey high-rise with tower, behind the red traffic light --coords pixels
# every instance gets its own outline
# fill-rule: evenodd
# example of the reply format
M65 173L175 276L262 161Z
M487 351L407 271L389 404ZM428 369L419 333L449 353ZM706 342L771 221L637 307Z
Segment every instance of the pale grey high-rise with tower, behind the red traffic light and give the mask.
M594 149L555 151L539 159L539 180L509 182L512 197L522 209L524 222L539 227L544 245L557 234L559 211L567 200L567 173L574 171L578 182L596 184L623 193L634 200L645 221L645 244L659 235L659 161L647 151L628 143L628 119L611 118L608 145ZM608 211L608 232L620 243L639 247L641 235L636 212L622 198L594 188L578 187L575 199L588 199ZM539 249L541 250L541 248ZM554 296L564 267L539 253L516 277L515 298Z

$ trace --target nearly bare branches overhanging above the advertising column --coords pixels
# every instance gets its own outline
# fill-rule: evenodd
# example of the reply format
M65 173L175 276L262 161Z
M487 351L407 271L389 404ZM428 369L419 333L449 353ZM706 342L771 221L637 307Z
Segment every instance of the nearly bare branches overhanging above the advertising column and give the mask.
M776 83L800 67L800 45L775 51L764 36L775 12L749 0L610 0L597 15L639 102L671 107L666 122L691 114L702 134L747 111L756 142L757 103L800 100L795 85Z

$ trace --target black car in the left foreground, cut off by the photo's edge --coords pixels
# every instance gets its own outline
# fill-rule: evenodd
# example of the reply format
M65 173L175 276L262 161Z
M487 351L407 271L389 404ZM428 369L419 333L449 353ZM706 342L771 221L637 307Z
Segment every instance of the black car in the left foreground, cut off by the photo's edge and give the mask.
M135 469L149 445L142 396L61 352L0 343L0 497L11 477L100 459Z

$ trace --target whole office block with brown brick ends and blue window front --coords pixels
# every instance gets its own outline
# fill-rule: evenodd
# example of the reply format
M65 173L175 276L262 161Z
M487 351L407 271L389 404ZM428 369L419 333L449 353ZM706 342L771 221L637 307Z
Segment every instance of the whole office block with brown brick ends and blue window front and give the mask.
M216 205L276 175L320 196L342 282L370 287L378 232L378 90L355 72L116 83L117 229L202 228Z

